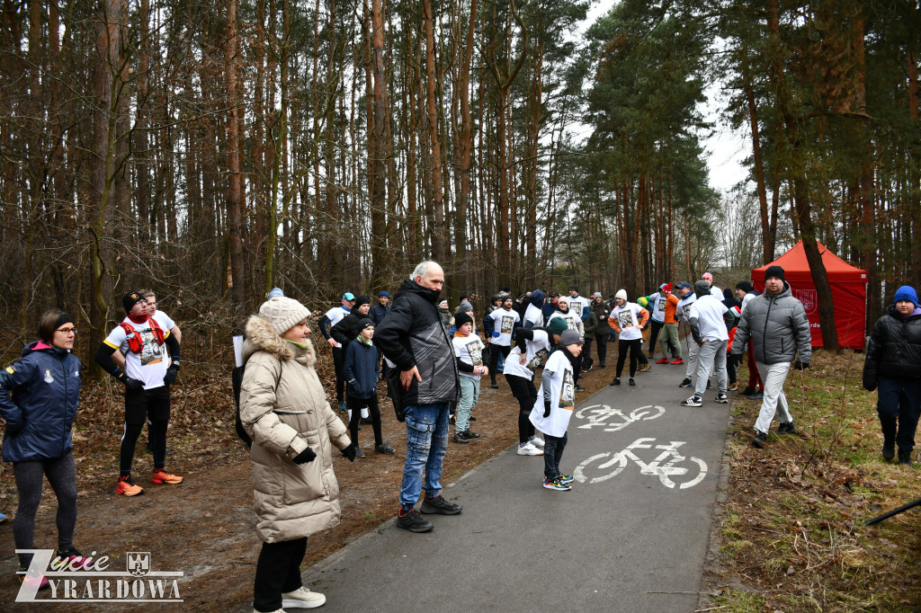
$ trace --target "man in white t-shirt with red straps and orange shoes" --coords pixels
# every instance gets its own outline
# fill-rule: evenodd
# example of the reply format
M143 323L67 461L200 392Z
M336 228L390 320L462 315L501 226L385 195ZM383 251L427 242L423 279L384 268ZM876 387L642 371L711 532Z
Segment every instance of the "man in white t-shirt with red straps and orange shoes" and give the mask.
M122 297L127 317L99 343L96 361L125 387L124 434L120 456L121 474L115 493L135 496L144 489L131 478L134 445L147 418L154 428L154 483L175 485L182 478L165 469L166 435L169 422L169 386L176 382L180 369L180 345L169 330L147 314L147 301L138 292ZM122 351L122 372L112 356Z

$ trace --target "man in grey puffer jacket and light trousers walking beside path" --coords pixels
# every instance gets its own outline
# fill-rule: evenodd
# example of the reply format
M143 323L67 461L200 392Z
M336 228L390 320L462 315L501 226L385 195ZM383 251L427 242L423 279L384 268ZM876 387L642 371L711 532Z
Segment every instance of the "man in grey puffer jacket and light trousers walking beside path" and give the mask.
M764 380L764 400L761 414L754 424L752 440L752 444L761 449L778 409L780 427L777 433L793 434L797 431L784 395L784 381L787 380L790 362L795 359L794 366L802 370L809 367L812 359L806 310L790 292L790 286L784 279L784 269L780 266L769 266L764 271L764 294L752 298L742 311L730 357L736 364L741 361L749 338L754 346L758 372Z

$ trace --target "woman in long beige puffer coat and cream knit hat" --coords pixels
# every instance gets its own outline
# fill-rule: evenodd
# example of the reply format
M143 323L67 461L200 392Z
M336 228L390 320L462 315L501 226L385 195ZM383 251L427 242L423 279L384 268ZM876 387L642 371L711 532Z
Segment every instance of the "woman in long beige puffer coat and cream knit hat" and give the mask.
M253 505L263 541L253 607L263 613L326 601L303 587L300 563L307 537L339 523L332 445L355 459L313 368L309 316L297 300L276 297L246 324L240 420L252 437Z

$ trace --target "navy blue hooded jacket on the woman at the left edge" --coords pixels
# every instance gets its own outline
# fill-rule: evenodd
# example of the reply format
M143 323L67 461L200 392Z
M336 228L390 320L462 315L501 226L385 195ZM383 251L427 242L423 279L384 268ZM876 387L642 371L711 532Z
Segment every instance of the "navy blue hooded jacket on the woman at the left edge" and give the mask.
M61 457L74 448L82 367L73 353L33 341L22 350L22 359L0 371L6 462Z

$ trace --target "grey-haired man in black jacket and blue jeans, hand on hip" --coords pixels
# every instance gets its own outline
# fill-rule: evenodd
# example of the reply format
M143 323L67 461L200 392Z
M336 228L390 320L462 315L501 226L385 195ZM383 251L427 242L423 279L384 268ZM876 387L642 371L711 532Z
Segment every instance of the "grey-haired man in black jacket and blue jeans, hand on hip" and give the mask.
M433 527L415 509L420 487L426 491L422 513L461 513L460 504L441 496L438 481L448 449L449 405L458 399L460 389L454 351L438 315L438 294L444 281L445 273L437 262L420 263L413 276L403 281L391 314L376 331L380 351L400 370L407 440L397 526L411 532L428 532Z

